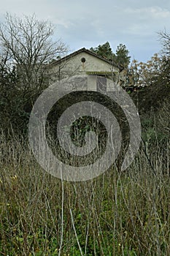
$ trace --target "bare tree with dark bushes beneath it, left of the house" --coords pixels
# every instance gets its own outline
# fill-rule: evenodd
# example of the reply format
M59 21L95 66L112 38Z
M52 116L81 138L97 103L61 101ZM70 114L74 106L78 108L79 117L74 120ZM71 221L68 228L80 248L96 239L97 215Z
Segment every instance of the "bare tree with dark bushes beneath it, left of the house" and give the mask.
M49 63L66 54L53 41L53 25L35 15L5 16L0 24L0 118L3 127L26 130L36 98L50 83Z

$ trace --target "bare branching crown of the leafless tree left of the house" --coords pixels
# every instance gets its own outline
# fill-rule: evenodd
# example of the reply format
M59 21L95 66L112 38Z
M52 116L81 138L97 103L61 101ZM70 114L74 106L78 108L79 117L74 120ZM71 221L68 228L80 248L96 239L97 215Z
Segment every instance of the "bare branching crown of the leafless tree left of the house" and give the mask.
M60 39L53 42L53 31L52 23L39 21L35 15L21 19L7 13L0 25L1 50L17 65L26 90L30 85L42 86L49 61L66 53L67 47Z

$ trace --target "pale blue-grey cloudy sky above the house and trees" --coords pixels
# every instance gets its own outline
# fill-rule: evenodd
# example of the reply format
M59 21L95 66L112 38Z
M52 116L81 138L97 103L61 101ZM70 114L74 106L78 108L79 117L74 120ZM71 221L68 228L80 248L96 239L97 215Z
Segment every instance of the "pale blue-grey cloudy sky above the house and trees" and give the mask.
M70 52L108 41L113 51L123 43L131 59L147 61L161 50L157 32L170 32L169 0L0 0L0 6L1 22L6 12L50 20Z

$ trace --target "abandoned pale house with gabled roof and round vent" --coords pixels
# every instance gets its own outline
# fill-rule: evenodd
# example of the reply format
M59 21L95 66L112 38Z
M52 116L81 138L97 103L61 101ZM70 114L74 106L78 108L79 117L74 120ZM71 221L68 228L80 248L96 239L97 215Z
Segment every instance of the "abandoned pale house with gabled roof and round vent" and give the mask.
M50 63L50 76L53 81L69 78L74 75L102 76L112 82L123 84L123 67L117 67L112 61L82 48L61 59ZM56 75L57 74L57 75ZM110 86L108 84L108 86Z

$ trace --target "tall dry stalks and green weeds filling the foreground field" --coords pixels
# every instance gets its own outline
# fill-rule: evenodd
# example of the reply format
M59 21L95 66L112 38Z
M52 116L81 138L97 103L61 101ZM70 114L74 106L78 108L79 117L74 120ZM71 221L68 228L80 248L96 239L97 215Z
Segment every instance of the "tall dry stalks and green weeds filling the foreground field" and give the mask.
M167 115L166 103L144 119L128 170L83 182L50 176L25 140L1 132L0 255L170 255Z

